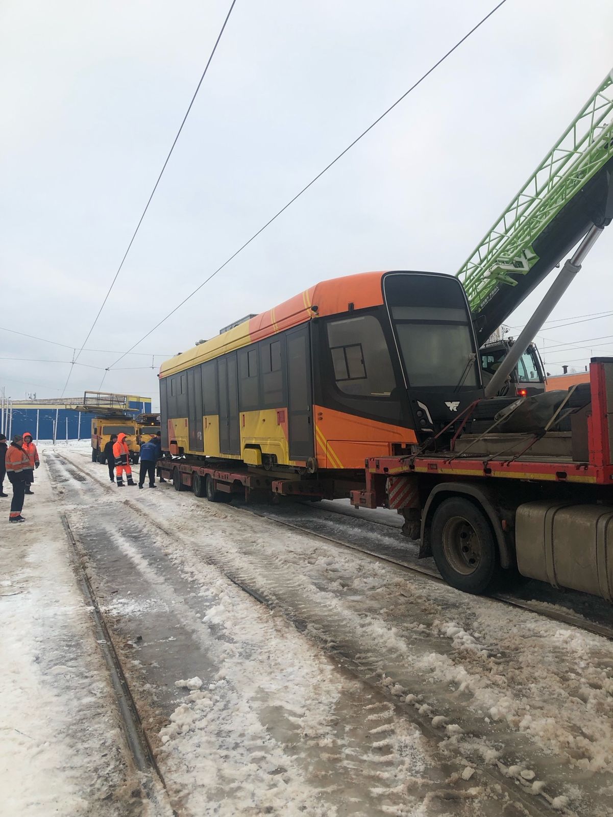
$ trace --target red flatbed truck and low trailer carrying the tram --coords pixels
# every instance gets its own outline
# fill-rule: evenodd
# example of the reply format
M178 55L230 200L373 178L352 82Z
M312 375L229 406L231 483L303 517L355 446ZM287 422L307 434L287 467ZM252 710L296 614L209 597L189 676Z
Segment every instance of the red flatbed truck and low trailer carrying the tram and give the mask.
M524 576L613 601L613 359L593 359L590 372L584 405L566 409L570 431L463 433L469 409L448 449L366 458L355 480L205 458L166 458L157 469L211 502L344 497L396 510L403 533L420 538L419 556L434 556L466 592Z

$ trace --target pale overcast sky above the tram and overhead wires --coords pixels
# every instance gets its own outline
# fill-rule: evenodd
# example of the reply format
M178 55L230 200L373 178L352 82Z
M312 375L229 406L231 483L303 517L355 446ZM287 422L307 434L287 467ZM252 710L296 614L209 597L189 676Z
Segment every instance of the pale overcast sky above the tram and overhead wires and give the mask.
M67 395L226 260L494 0L238 0ZM81 346L229 0L2 0L0 325ZM508 0L440 69L105 378L156 395L165 356L318 280L454 273L613 64L611 0ZM613 227L555 316L611 303ZM509 324L521 324L543 287ZM613 318L544 332L554 361ZM605 340L606 342L606 340ZM602 341L594 341L602 343ZM545 349L543 350L543 346ZM594 354L613 354L598 346ZM72 351L0 331L0 357ZM0 386L59 395L65 363L0 360Z

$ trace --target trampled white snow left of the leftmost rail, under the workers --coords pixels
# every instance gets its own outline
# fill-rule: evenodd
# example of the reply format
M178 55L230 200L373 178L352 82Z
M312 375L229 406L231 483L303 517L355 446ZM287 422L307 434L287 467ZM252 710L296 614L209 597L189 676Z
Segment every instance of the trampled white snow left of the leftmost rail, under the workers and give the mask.
M27 522L9 525L11 498L0 499L0 815L153 817L71 569L59 498L42 467Z

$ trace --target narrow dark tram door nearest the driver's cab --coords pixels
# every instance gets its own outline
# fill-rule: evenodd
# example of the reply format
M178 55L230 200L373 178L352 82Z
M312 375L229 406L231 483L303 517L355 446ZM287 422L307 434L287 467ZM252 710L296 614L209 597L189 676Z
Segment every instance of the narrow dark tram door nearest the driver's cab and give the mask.
M313 441L313 390L309 326L286 336L288 362L289 458L307 459L315 454Z

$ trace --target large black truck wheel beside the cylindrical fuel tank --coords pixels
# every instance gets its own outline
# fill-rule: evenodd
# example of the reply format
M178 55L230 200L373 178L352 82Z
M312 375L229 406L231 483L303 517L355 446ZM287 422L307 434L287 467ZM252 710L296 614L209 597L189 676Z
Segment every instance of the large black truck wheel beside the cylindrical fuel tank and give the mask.
M493 589L502 573L489 521L462 497L445 499L434 511L432 556L445 582L466 593Z

